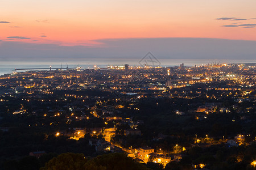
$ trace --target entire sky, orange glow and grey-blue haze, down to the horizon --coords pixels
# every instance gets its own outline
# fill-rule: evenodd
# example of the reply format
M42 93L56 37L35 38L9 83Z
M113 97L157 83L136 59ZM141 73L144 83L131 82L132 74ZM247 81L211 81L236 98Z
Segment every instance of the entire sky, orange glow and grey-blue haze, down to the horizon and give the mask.
M255 9L255 0L1 0L0 59L254 59Z

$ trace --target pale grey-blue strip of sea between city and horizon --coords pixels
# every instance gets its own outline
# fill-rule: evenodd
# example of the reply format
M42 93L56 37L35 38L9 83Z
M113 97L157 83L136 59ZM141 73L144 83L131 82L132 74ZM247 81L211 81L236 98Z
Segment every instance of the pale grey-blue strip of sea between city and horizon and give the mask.
M65 61L1 61L0 62L0 75L11 74L14 72L22 72L27 70L14 71L14 69L34 69L34 68L61 68L65 69L74 67L81 67L82 69L93 69L95 66L100 68L106 68L108 66L123 66L128 64L129 66L141 66L144 62L143 58L133 59L71 59ZM256 59L156 59L155 62L160 66L180 66L184 63L184 66L199 66L207 65L209 63L256 63ZM150 61L149 61L150 63Z

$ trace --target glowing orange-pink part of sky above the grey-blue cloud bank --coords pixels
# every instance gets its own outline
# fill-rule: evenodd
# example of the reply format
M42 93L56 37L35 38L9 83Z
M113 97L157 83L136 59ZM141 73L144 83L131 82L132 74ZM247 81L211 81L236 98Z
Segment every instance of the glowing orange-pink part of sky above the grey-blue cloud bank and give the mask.
M0 46L8 45L6 49L12 45L15 49L16 42L108 48L104 39L180 37L256 41L255 27L255 0L2 0L0 3Z

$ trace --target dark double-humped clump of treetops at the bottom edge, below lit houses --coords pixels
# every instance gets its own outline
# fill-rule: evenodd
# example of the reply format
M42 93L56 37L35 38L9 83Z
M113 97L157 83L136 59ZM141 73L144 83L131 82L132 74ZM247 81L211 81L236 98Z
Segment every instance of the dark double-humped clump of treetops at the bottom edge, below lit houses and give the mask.
M86 159L83 154L65 153L51 159L40 170L148 170L143 164L135 163L133 159L122 153L100 155Z

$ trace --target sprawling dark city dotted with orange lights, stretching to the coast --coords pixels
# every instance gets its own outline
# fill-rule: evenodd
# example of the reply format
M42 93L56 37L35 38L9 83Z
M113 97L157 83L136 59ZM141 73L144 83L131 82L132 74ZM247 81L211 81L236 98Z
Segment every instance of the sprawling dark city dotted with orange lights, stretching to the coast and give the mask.
M92 156L124 153L162 168L189 158L184 164L191 168L209 167L218 159L214 152L208 155L213 160L204 158L210 148L223 154L255 146L255 67L214 63L13 72L0 77L0 104L3 119L15 124L1 129L38 131L30 138L42 138L44 145L66 141L55 149L36 144L44 153L74 152L83 143ZM232 158L242 162L244 156Z

